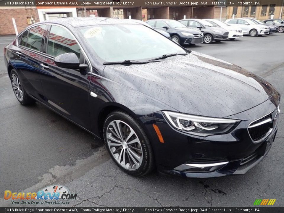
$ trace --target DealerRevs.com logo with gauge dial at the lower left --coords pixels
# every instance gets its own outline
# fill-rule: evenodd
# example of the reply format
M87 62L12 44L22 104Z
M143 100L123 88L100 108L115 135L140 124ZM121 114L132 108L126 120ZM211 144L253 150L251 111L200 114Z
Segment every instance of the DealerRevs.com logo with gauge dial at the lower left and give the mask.
M58 205L69 204L70 200L76 200L77 194L70 193L69 190L61 185L51 185L38 192L12 192L4 191L4 199L10 200L12 204L26 205Z

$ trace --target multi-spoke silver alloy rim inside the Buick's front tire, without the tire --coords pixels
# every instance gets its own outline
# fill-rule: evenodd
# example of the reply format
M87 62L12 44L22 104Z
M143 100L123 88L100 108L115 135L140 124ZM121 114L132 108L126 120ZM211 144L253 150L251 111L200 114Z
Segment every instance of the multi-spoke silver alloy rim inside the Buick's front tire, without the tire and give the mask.
M135 131L121 120L106 129L106 141L114 159L126 170L137 170L143 161L141 142Z

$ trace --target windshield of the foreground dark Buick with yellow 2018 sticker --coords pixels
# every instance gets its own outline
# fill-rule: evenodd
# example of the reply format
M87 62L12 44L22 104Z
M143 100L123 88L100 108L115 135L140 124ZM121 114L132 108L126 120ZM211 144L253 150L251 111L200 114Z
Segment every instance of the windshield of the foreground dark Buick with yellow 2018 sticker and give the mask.
M148 61L165 54L187 54L178 44L140 24L84 26L79 31L104 62Z

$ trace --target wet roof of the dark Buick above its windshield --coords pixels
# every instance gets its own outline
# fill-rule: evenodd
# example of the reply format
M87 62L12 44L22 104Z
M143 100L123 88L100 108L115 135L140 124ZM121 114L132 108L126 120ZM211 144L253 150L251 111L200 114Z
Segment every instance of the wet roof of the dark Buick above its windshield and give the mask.
M128 19L114 19L107 17L68 17L55 20L44 21L43 23L55 23L73 27L90 26L90 25L107 25L107 24L135 24L135 22Z

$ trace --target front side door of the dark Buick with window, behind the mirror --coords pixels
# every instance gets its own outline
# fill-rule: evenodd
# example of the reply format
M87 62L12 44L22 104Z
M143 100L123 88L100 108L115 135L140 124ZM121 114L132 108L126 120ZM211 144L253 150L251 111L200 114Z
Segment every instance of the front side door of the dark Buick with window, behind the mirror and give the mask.
M60 25L49 25L48 38L44 46L44 57L41 59L41 84L45 103L55 111L80 126L90 130L87 73L91 64L86 62L86 56L74 35ZM64 53L75 53L80 63L88 64L85 70L58 67L54 58Z

